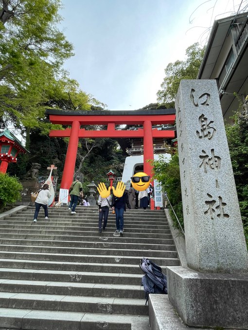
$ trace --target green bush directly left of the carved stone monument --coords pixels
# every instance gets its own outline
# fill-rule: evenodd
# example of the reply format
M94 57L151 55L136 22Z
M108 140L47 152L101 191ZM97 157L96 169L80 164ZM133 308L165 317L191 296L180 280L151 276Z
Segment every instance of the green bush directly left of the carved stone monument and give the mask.
M174 150L175 151L175 150ZM162 190L167 193L167 197L177 214L177 218L183 228L182 214L182 196L179 172L178 153L172 154L171 159L167 161L162 155L159 155L159 160L153 161L154 178L161 182ZM180 229L177 219L171 212L174 226Z

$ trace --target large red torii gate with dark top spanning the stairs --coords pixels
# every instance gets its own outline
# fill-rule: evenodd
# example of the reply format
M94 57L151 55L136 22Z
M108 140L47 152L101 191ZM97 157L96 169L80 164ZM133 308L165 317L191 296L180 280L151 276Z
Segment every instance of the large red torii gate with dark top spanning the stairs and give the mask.
M152 175L152 165L146 160L153 160L153 138L174 138L174 131L158 131L152 125L174 124L175 109L134 110L134 111L67 111L47 109L46 115L53 124L71 125L65 130L53 130L50 137L70 137L67 149L61 188L69 189L73 180L79 138L143 138L143 163L144 172ZM117 131L115 125L142 125L135 131ZM81 129L81 125L107 125L106 130L90 131ZM130 173L130 177L133 173Z

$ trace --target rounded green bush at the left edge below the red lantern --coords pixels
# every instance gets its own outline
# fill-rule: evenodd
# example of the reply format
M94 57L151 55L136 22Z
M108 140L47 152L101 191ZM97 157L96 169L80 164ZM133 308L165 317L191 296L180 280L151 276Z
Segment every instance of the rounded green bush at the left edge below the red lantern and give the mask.
M7 203L15 203L21 200L23 187L16 177L0 172L0 210L3 210Z

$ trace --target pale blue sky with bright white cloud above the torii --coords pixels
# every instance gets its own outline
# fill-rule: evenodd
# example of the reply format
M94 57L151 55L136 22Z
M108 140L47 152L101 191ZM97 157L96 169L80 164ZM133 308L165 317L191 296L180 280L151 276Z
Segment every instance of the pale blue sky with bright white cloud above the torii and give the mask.
M108 110L157 102L169 63L207 42L214 19L248 0L62 0L58 26L74 45L64 68ZM241 5L241 6L240 6ZM246 9L248 11L248 8Z

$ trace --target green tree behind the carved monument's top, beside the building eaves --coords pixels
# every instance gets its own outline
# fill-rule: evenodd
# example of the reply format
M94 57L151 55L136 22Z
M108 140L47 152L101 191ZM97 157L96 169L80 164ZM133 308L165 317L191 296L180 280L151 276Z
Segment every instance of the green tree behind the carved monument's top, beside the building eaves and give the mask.
M179 83L182 79L196 79L203 59L205 48L200 48L198 43L186 49L187 59L169 63L165 68L165 78L158 91L158 101L166 108L175 107L175 99Z

